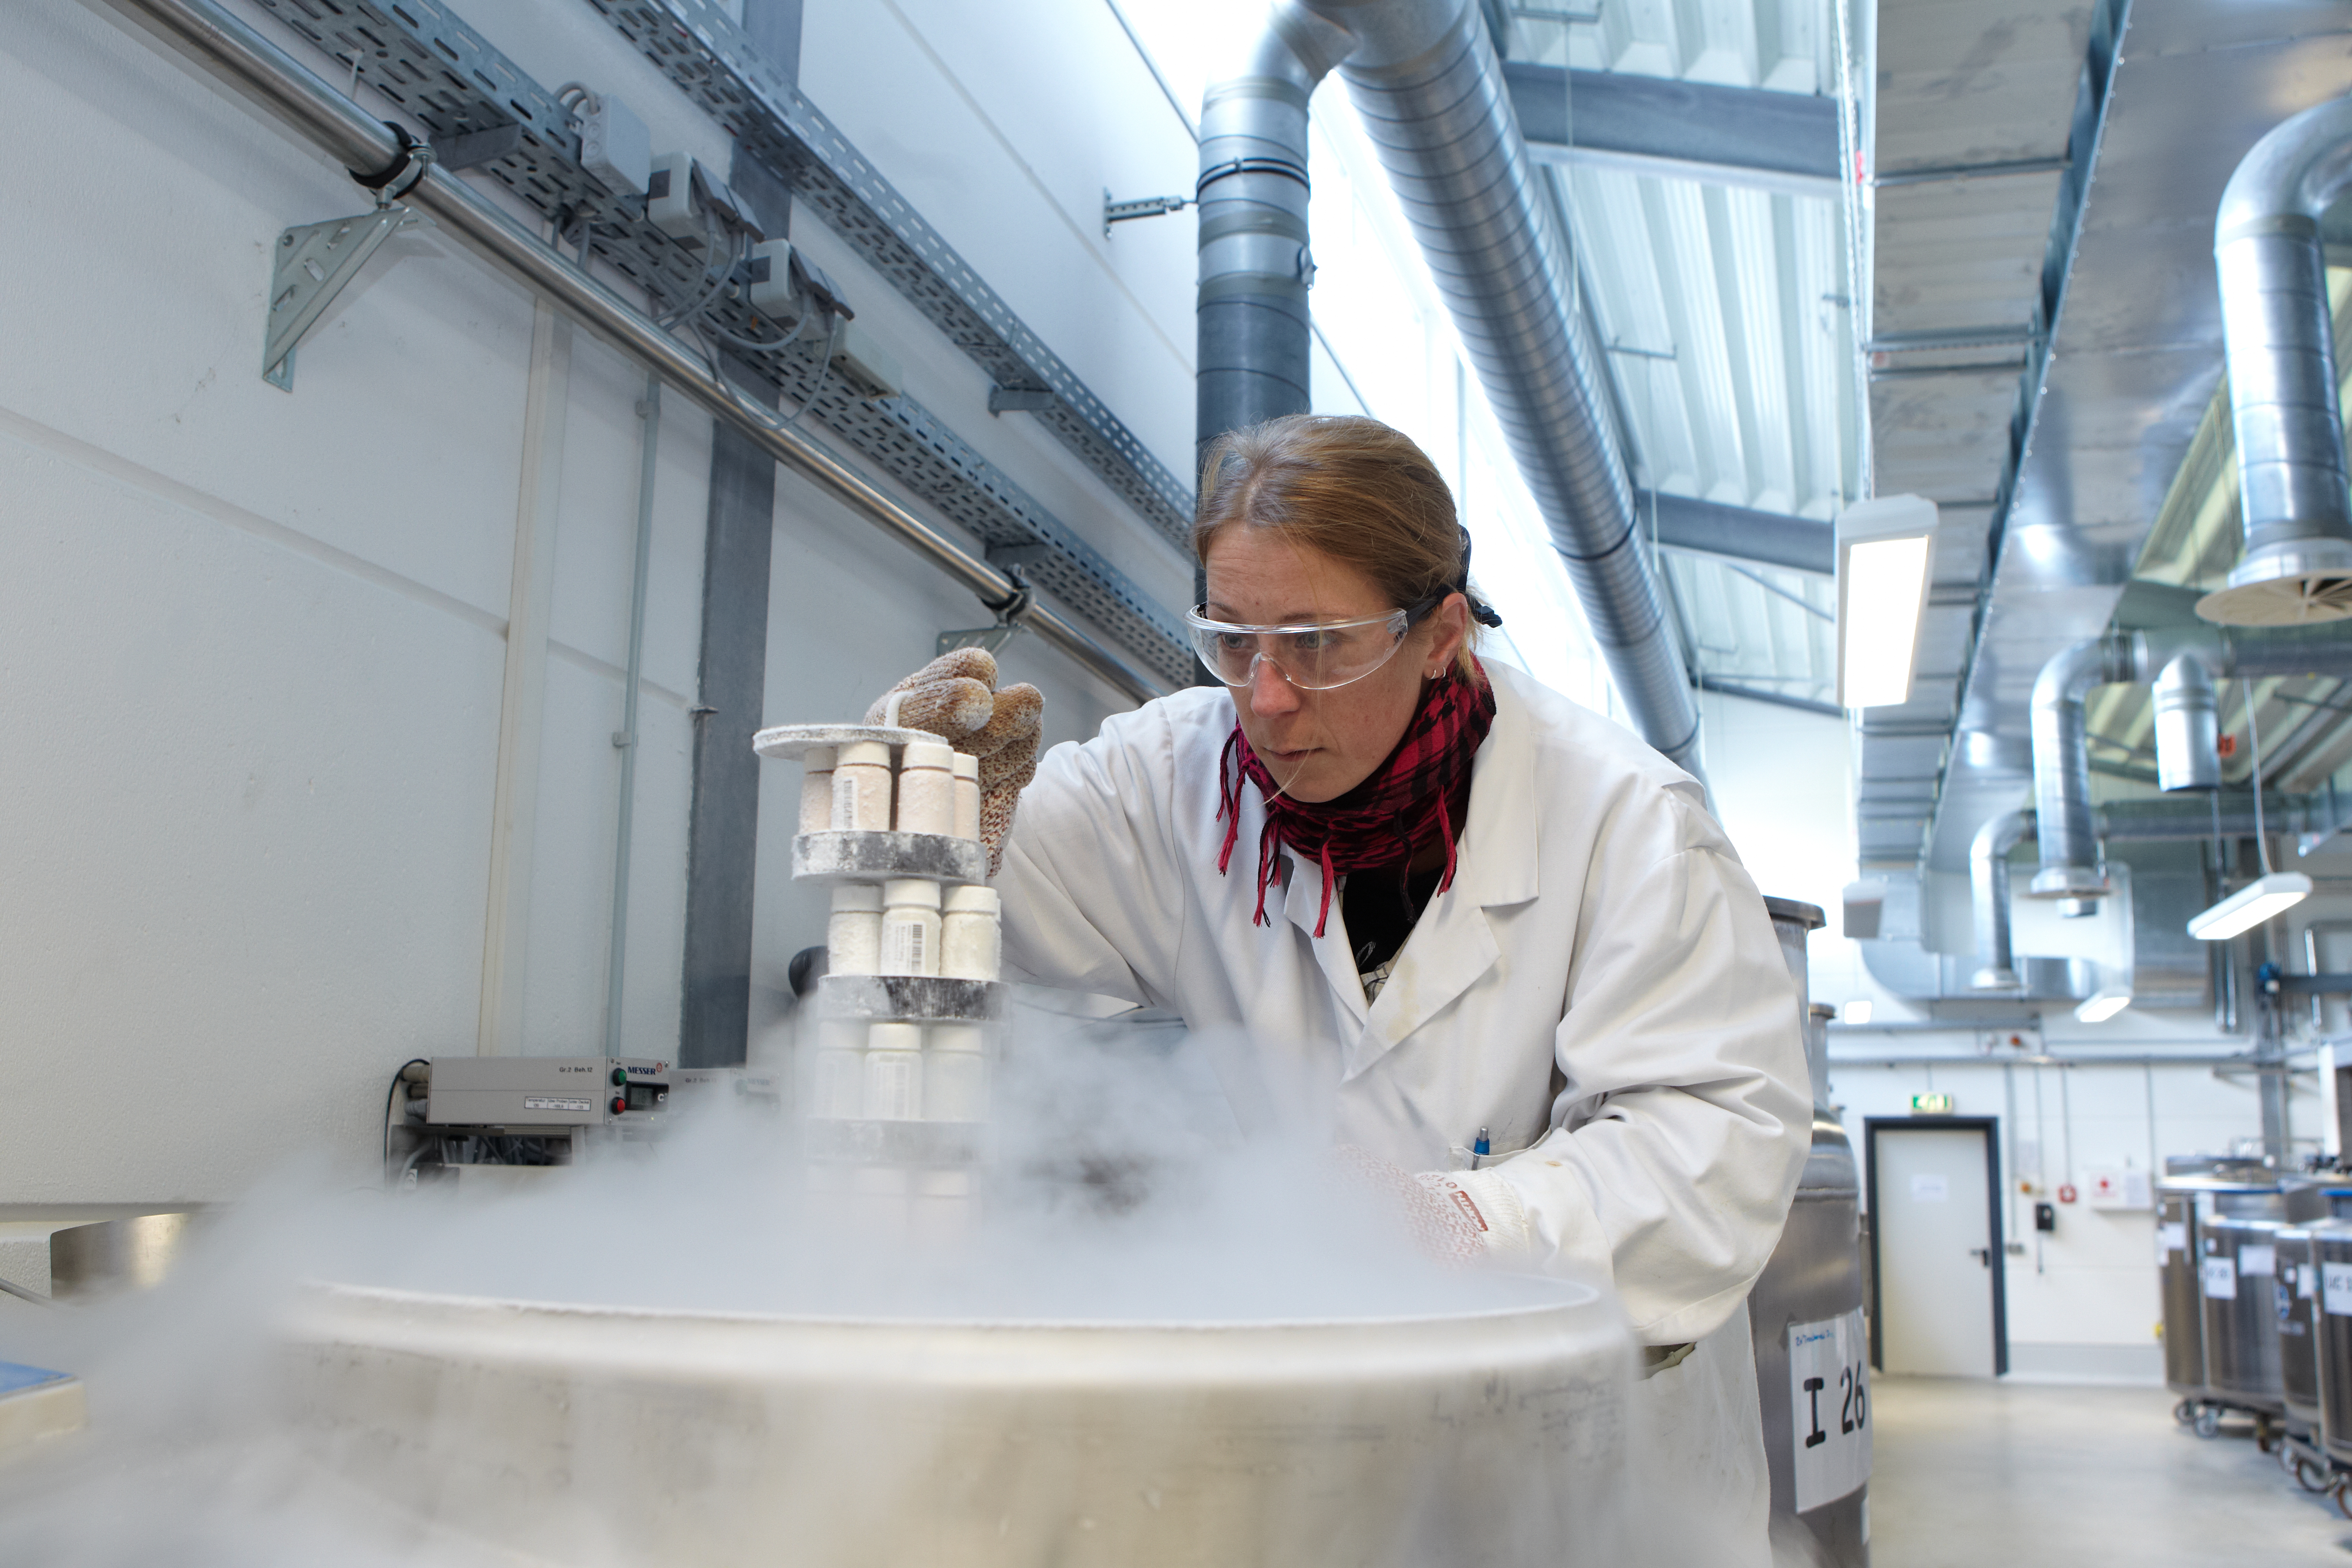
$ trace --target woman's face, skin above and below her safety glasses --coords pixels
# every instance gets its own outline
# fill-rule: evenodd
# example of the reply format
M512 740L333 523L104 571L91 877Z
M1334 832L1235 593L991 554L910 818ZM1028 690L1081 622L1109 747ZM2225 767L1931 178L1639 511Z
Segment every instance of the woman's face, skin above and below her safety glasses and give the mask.
M1385 616L1390 604L1369 576L1277 529L1232 524L1209 545L1209 616L1242 625L1305 625ZM1261 658L1247 686L1230 686L1249 748L1284 795L1327 802L1371 778L1397 750L1421 705L1421 684L1444 675L1468 630L1468 604L1451 595L1395 656L1364 679L1301 691Z

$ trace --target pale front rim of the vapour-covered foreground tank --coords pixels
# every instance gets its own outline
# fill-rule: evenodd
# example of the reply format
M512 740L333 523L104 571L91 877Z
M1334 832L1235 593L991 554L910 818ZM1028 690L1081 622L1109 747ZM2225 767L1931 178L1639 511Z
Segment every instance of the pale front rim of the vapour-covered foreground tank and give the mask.
M891 1312L755 1312L746 1307L635 1307L626 1302L543 1302L520 1295L466 1295L456 1291L412 1291L402 1286L355 1286L332 1279L303 1279L301 1291L343 1300L343 1302L383 1302L383 1305L412 1305L430 1309L480 1309L499 1316L520 1314L553 1314L553 1316L576 1316L597 1324L616 1324L623 1319L666 1319L677 1324L724 1324L724 1326L807 1326L807 1328L873 1328L873 1331L955 1331L955 1333L1202 1333L1202 1335L1230 1335L1251 1331L1312 1331L1312 1333L1345 1333L1345 1331L1374 1331L1374 1328L1414 1328L1414 1326L1439 1326L1439 1324L1486 1324L1512 1316L1543 1316L1550 1312L1562 1312L1566 1307L1590 1307L1599 1300L1599 1291L1576 1279L1557 1279L1552 1274L1501 1274L1501 1279L1541 1284L1552 1291L1576 1291L1576 1298L1559 1298L1548 1302L1526 1302L1517 1307L1477 1307L1477 1309L1454 1309L1454 1312L1397 1312L1383 1316L1235 1316L1235 1319L1148 1319L1148 1316L903 1316Z

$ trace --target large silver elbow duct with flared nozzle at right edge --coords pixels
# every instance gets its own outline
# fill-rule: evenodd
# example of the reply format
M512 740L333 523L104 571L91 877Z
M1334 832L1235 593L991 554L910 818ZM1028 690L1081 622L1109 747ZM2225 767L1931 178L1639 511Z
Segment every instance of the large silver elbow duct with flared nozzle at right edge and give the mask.
M2237 165L2213 223L2246 557L2197 614L2352 616L2352 503L2319 214L2352 190L2352 99L2307 108Z

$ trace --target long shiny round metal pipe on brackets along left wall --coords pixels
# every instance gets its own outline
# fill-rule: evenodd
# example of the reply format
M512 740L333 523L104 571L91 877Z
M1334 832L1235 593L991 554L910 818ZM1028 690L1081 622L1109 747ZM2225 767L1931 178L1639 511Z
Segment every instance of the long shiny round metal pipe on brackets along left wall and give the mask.
M388 125L367 115L334 85L294 61L238 16L230 16L214 0L108 2L195 63L223 78L245 96L287 120L329 158L343 162L343 167L383 169L400 158L400 141ZM884 534L910 545L917 555L978 595L983 604L1016 604L1023 597L1014 578L894 501L830 447L788 425L774 409L739 393L734 383L713 374L684 343L557 256L553 247L499 212L489 197L456 174L437 167L428 169L402 202L430 214L459 242L510 273L572 322L586 327L654 376L661 376L661 381L691 397L713 418L741 430L779 463L807 477ZM1164 686L1160 682L1094 642L1058 609L1030 599L1025 607L1016 604L1016 618L1047 644L1061 649L1077 665L1134 701L1148 703L1162 696Z

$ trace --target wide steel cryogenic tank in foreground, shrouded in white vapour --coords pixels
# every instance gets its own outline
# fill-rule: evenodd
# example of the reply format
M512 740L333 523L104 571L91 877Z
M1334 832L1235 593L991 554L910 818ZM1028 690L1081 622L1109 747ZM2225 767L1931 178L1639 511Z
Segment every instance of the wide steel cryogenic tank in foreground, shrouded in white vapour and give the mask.
M1623 1563L1613 1302L1263 1324L828 1321L318 1288L353 1483L548 1563Z

